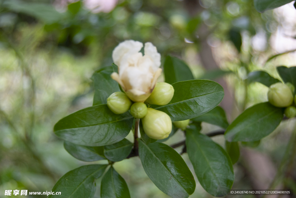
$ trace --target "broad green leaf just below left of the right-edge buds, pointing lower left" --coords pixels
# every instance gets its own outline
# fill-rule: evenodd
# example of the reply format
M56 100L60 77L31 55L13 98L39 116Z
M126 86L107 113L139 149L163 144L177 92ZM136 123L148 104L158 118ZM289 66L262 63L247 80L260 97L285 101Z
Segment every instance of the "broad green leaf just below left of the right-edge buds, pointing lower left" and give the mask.
M284 117L282 108L269 102L256 104L242 112L226 129L227 141L257 141L269 135Z

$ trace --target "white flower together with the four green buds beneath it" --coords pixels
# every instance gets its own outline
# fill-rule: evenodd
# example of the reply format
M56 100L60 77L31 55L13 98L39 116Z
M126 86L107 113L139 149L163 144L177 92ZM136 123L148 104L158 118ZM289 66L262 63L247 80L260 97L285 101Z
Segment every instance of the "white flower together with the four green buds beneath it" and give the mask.
M115 92L107 99L110 110L121 114L130 110L131 115L141 119L147 136L164 139L172 131L170 117L162 111L147 108L150 104L166 105L174 95L168 83L157 83L161 74L160 54L152 43L143 44L128 40L120 43L112 52L118 73L111 78L118 82L124 92Z

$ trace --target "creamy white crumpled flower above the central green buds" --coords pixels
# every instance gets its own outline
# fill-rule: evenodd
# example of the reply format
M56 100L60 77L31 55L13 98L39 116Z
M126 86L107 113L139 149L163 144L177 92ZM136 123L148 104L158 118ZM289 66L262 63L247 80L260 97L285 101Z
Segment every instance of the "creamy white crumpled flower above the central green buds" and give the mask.
M144 56L139 52L142 47L141 42L128 40L115 47L112 53L118 73L112 73L111 77L134 102L144 102L150 96L162 71L156 47L145 43Z

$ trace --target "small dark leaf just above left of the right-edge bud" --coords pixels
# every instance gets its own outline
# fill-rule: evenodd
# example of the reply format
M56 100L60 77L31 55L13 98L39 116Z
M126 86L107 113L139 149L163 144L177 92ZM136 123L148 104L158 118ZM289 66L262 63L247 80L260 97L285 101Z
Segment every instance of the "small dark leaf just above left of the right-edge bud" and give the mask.
M248 74L247 81L248 81L248 83L259 82L259 83L262 83L263 85L268 86L268 87L274 83L281 82L278 79L269 75L265 71L250 72Z

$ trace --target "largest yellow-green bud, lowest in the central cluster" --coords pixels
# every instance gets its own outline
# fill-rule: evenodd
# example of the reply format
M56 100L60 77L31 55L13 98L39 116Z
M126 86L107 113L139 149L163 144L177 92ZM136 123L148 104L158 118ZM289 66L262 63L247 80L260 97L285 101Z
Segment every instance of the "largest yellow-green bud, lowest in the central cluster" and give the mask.
M147 108L147 114L142 118L143 128L148 137L165 139L172 131L172 120L165 112Z

